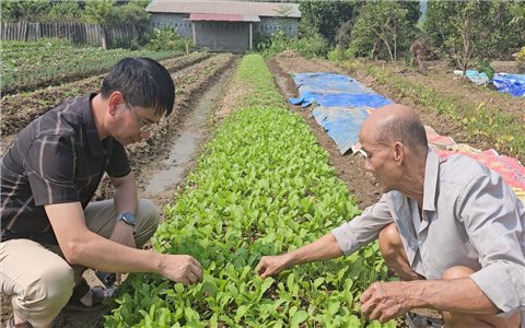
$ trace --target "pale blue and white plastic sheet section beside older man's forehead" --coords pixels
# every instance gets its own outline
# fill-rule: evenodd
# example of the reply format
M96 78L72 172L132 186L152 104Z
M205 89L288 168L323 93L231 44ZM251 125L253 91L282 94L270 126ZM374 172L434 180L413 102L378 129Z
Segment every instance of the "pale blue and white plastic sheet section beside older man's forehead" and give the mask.
M336 142L341 154L352 149L359 141L361 125L369 117L365 107L324 107L317 106L312 110L312 116L322 126L328 136ZM352 151L355 151L352 149Z

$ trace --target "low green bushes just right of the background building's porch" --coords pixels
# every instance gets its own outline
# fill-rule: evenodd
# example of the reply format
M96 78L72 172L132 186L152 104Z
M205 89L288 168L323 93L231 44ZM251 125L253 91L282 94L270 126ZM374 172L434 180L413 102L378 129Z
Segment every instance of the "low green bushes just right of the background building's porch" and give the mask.
M330 46L316 33L301 38L294 38L279 31L278 33L273 33L270 38L258 42L256 49L265 56L275 56L284 50L295 50L306 58L324 58L330 50Z

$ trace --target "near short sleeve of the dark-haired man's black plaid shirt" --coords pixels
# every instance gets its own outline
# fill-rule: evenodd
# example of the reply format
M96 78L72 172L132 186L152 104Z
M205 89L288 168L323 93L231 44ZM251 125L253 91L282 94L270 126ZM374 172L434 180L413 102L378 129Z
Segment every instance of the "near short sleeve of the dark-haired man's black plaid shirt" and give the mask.
M75 153L71 140L45 136L34 140L24 160L36 206L79 201L74 187Z

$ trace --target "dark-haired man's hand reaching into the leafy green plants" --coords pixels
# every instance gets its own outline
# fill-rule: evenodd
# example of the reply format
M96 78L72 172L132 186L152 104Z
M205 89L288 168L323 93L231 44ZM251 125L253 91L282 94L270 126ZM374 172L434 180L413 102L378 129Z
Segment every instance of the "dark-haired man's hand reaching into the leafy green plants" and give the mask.
M163 255L159 273L184 284L202 281L202 268L199 261L189 255Z

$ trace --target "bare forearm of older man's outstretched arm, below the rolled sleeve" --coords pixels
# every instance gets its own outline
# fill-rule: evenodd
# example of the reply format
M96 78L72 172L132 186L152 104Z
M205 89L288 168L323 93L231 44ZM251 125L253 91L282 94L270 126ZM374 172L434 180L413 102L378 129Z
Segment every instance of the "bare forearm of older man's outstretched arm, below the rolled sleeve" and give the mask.
M329 260L342 256L341 248L331 233L327 233L310 245L287 255L289 267L315 261Z

